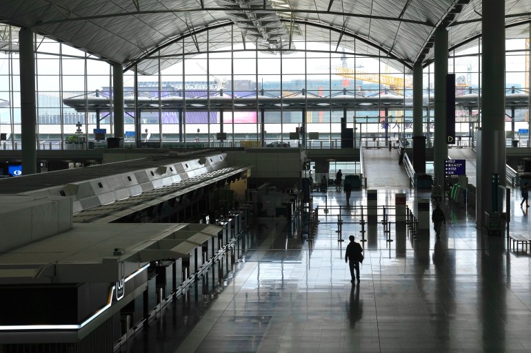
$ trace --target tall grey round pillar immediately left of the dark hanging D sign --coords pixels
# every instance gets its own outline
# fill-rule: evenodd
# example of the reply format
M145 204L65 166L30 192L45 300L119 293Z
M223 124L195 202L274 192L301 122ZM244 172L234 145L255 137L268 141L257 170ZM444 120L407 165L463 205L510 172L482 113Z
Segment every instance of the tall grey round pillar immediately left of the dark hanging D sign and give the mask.
M448 74L448 31L435 31L434 57L434 141L433 170L435 185L444 184L444 160L448 158L446 145L446 75Z

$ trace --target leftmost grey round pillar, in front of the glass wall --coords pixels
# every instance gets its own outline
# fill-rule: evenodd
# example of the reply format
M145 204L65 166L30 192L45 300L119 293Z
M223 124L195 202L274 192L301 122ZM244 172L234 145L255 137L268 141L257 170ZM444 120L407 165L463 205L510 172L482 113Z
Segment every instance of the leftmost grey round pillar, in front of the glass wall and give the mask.
M37 173L37 108L35 105L35 58L33 32L30 28L19 31L20 47L20 100L22 133L22 173Z

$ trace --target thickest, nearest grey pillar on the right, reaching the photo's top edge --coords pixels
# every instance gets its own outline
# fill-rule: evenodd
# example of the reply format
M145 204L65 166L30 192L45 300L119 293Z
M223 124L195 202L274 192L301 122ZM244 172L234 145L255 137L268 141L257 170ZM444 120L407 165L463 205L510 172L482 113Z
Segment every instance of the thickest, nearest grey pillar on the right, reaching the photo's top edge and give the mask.
M492 174L505 185L505 1L483 0L481 133L477 145L476 222L492 211Z

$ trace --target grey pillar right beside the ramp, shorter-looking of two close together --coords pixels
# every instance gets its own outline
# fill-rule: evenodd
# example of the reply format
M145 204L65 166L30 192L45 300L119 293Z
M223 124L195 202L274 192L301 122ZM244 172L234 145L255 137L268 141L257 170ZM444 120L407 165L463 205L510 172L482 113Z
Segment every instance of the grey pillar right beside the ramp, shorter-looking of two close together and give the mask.
M422 129L422 65L413 66L413 169L426 172L426 138Z

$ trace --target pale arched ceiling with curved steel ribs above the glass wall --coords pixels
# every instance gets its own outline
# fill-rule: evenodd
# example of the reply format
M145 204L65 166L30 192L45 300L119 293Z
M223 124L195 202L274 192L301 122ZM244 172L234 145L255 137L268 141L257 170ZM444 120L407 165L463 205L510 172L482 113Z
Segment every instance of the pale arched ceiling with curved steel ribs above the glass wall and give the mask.
M503 1L503 0L500 0ZM297 49L297 41L342 43L355 36L359 54L425 65L433 34L449 30L457 47L481 35L481 0L3 0L0 22L32 28L108 61L154 73L150 55L219 50L257 43L260 50ZM505 0L507 36L528 37L531 0ZM180 40L180 43L179 43ZM184 46L184 47L183 47ZM1 48L0 48L1 50ZM166 59L167 58L167 59Z

